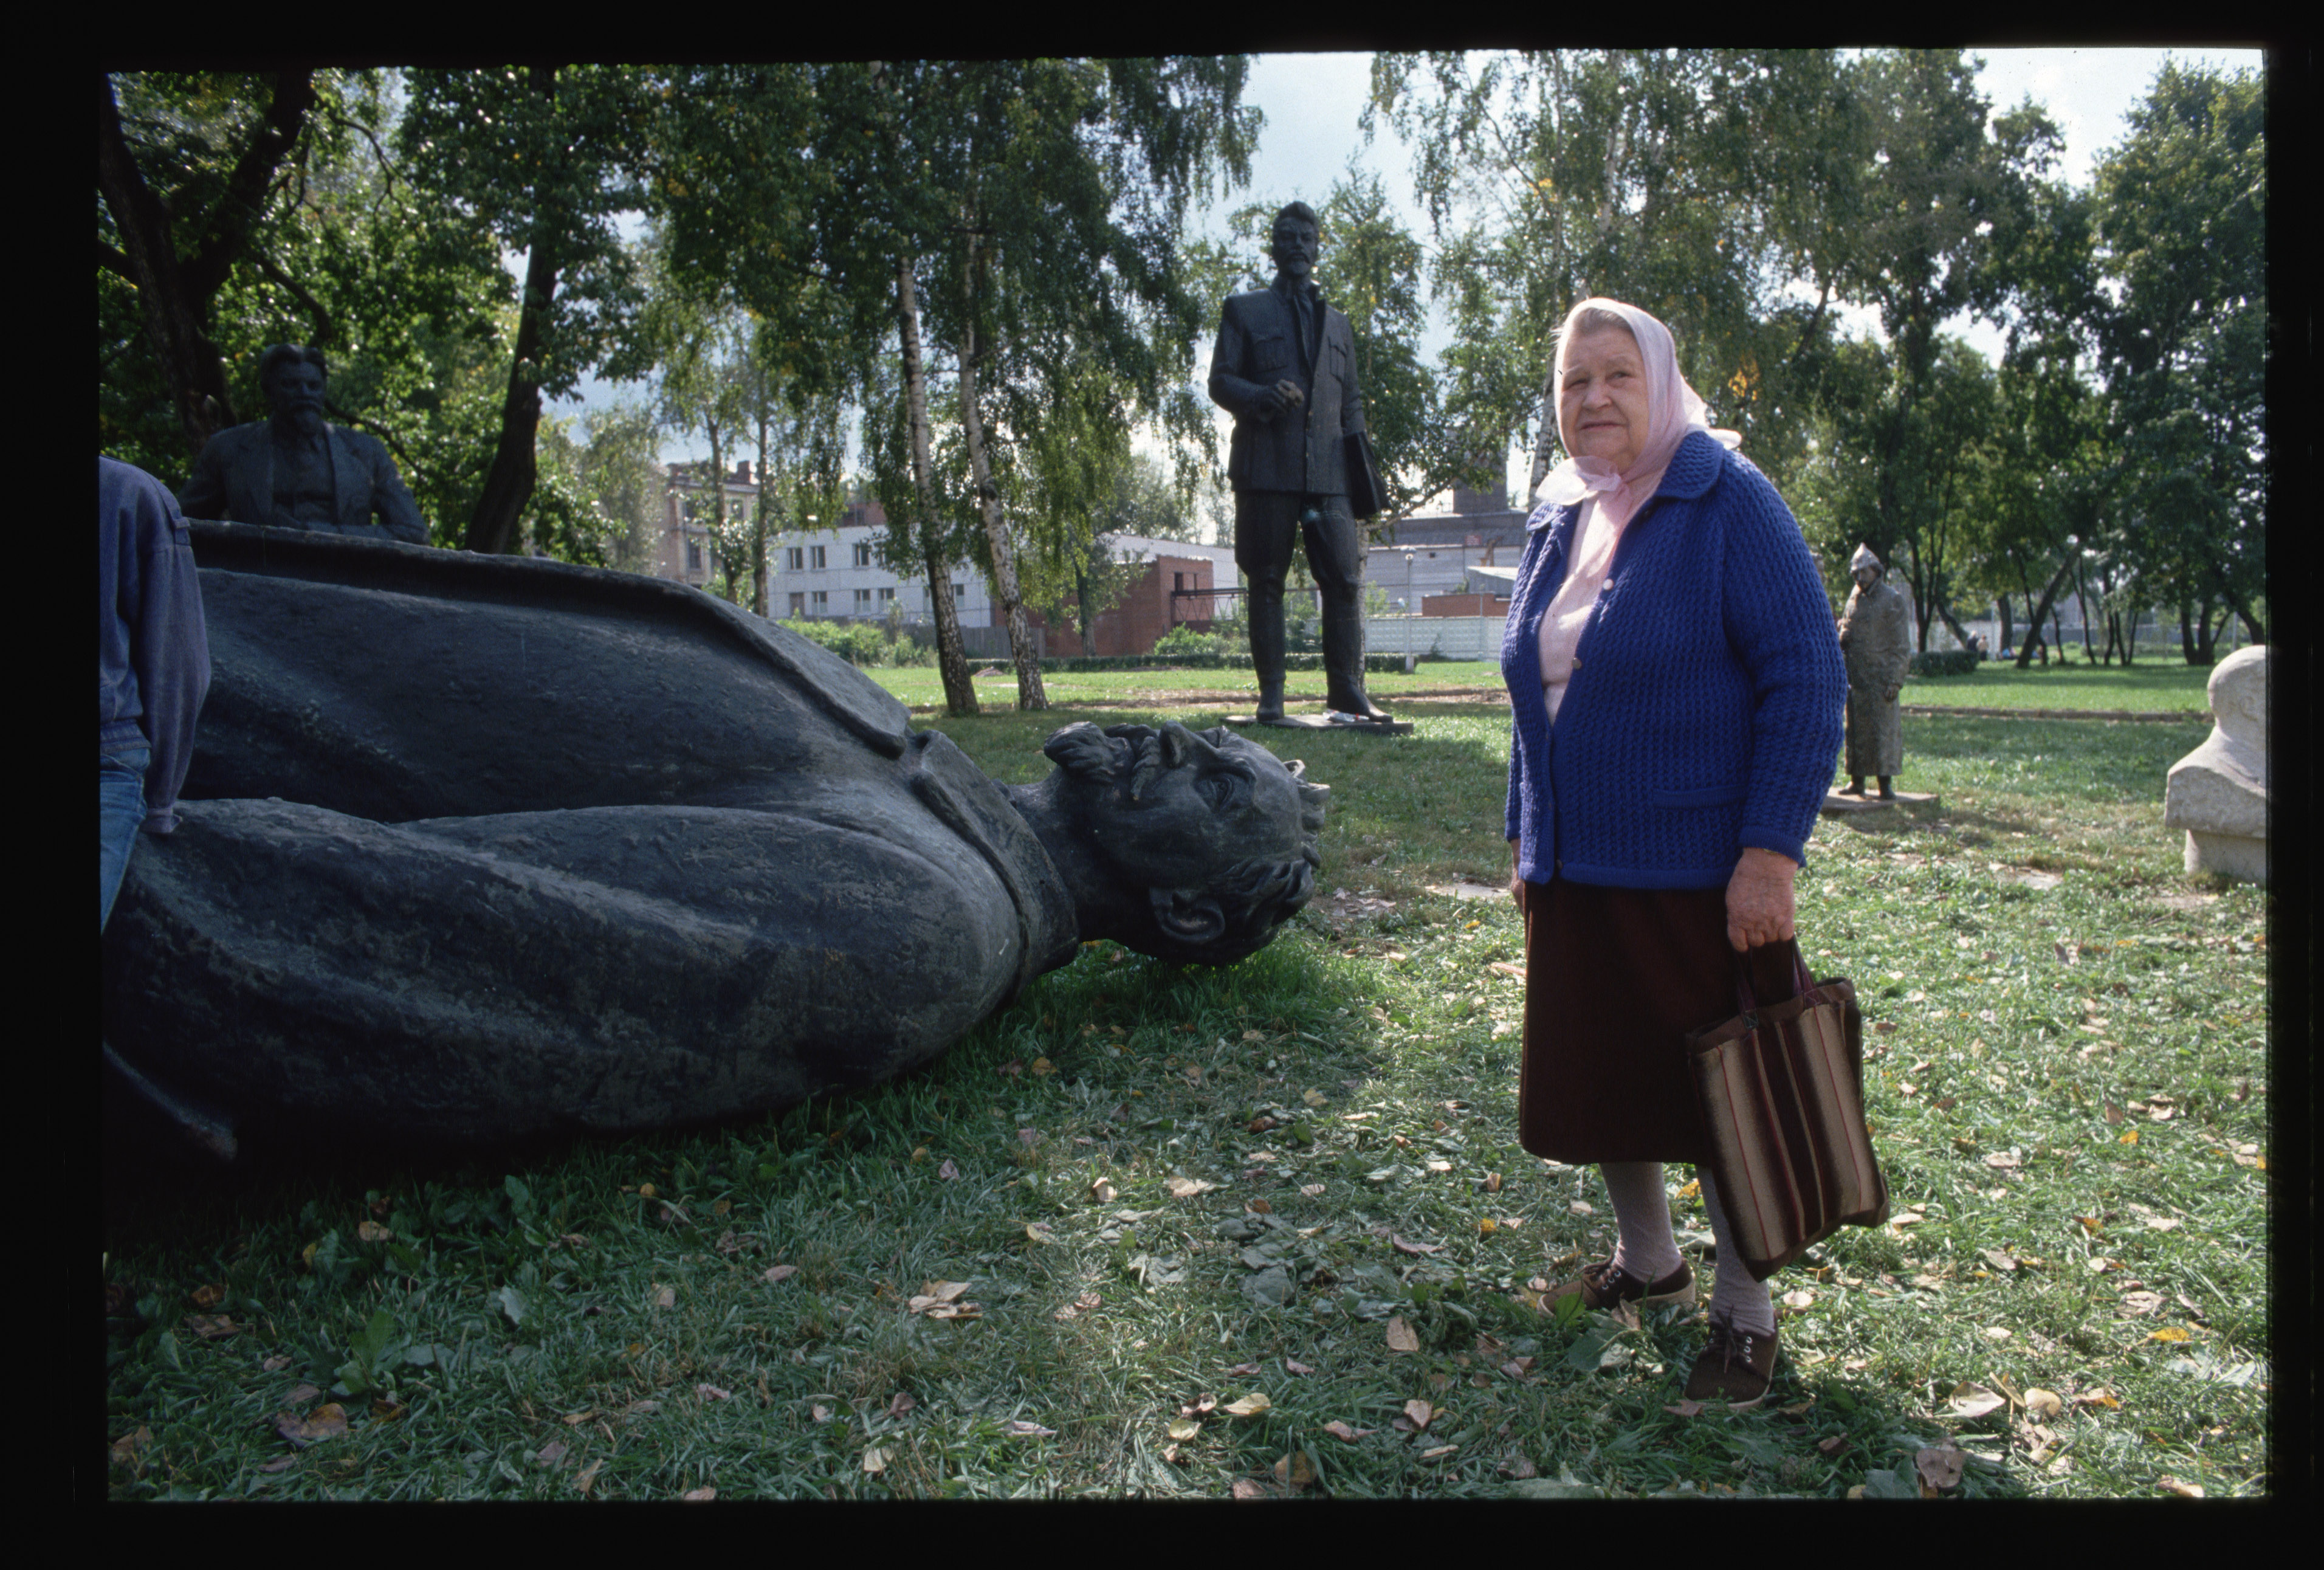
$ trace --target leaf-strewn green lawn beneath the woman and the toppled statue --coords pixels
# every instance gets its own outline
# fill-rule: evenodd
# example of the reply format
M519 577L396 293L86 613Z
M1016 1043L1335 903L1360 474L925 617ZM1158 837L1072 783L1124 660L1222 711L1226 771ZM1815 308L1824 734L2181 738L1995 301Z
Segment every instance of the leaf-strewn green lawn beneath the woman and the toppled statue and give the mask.
M1055 721L946 730L1027 779ZM1515 1147L1513 909L1427 891L1501 875L1506 728L1478 702L1264 737L1334 786L1320 898L1274 947L1225 972L1092 947L876 1093L462 1158L116 1149L112 1496L1215 1498L1292 1458L1332 1496L1527 1468L1841 1496L1941 1437L1980 1496L2266 1491L2266 898L2189 882L2159 823L2203 726L1908 719L1941 812L1817 828L1806 947L1859 986L1875 1147L1922 1219L1776 1277L1808 1293L1776 1400L1692 1419L1699 1314L1527 1303L1604 1256L1611 1207ZM1246 1291L1267 1265L1290 1305ZM978 1314L911 1312L932 1282ZM1957 1416L1964 1384L2061 1410ZM344 1435L279 1437L325 1403Z

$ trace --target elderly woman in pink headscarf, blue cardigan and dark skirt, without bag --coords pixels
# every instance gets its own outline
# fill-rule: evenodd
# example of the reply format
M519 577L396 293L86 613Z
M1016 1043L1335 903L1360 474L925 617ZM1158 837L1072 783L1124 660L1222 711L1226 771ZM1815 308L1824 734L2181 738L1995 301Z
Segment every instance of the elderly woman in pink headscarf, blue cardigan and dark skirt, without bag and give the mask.
M1583 300L1557 340L1557 435L1501 642L1511 893L1525 912L1525 1149L1599 1163L1620 1242L1555 1289L1692 1303L1664 1161L1697 1163L1717 1240L1690 1400L1757 1405L1776 1309L1734 1254L1685 1033L1736 1012L1738 963L1789 998L1792 877L1841 749L1848 677L1792 512L1708 428L1671 330Z

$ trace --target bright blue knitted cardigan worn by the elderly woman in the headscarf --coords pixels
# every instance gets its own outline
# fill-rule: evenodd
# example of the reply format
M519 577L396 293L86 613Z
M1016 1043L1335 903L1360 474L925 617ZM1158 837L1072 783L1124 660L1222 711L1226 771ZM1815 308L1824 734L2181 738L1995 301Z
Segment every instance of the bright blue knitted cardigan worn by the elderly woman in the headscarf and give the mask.
M1845 733L1848 670L1776 486L1703 433L1615 547L1557 723L1541 616L1580 507L1527 521L1501 635L1508 837L1527 882L1722 889L1745 847L1806 865Z

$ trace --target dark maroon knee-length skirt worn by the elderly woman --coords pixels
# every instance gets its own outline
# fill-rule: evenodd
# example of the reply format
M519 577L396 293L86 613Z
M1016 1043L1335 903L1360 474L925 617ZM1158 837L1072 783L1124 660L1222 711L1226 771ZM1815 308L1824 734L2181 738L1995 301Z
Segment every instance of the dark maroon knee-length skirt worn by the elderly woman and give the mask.
M1724 889L1525 889L1518 1142L1566 1163L1710 1156L1687 1033L1736 1014ZM1748 956L1759 1002L1789 998L1792 944Z

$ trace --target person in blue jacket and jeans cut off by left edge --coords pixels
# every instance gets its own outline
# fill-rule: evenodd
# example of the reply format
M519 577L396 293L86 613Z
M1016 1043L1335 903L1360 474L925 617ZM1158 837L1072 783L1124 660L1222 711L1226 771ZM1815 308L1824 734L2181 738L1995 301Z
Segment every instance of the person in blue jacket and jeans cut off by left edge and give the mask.
M137 830L177 828L209 640L193 537L144 470L98 458L98 930Z

